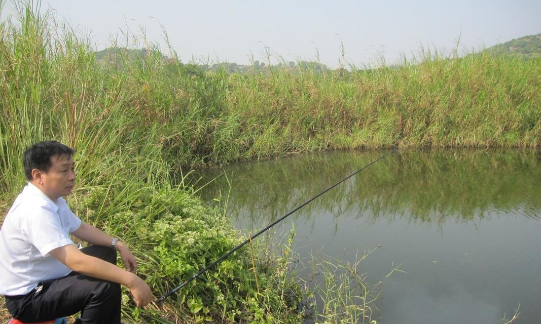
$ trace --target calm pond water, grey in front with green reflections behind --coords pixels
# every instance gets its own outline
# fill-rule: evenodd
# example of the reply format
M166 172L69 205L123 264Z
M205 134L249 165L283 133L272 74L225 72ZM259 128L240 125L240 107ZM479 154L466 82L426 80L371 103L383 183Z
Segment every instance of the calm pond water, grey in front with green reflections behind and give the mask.
M225 173L202 198L229 194L235 226L255 232L384 153L304 154L197 174L202 184ZM398 151L276 227L294 225L301 260L353 262L357 249L380 245L358 266L368 283L382 281L378 323L503 323L519 305L514 323L541 323L540 184L540 152ZM385 278L402 263L406 273Z

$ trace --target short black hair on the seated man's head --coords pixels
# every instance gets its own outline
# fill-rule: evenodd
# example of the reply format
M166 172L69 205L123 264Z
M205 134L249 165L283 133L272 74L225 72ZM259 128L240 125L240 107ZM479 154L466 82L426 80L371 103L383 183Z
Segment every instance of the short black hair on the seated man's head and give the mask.
M75 153L74 149L56 140L44 140L36 143L24 151L24 174L28 180L32 180L32 170L35 168L43 172L49 172L52 165L52 156L62 156L64 154L72 156L73 153Z

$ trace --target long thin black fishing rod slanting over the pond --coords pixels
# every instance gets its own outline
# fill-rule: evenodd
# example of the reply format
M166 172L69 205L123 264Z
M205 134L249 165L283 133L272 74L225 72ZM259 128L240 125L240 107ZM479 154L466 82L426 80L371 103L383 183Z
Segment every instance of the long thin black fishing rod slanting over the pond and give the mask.
M168 298L170 295L174 294L176 291L178 291L180 288L188 285L192 280L196 279L197 277L199 277L200 275L202 275L203 273L205 273L208 269L214 267L216 264L218 264L219 262L225 260L227 257L229 257L229 255L233 254L235 251L237 251L237 249L240 249L241 247L245 246L246 244L248 244L249 242L252 242L253 239L255 239L256 237L258 237L259 235L261 235L263 232L267 231L269 228L273 227L274 225L278 224L280 221L286 219L286 217L288 217L289 215L293 214L294 212L300 210L302 207L308 205L309 203L311 203L313 200L317 199L320 195L326 193L327 191L331 190L332 188L338 186L339 184L343 183L344 181L346 181L347 179L355 176L355 174L361 172L362 170L365 170L365 168L371 166L372 164L376 163L377 161L381 160L382 158L385 158L386 156L388 156L389 154L391 154L393 151L391 152L388 152L387 154L385 154L384 156L381 156L380 158L372 161L371 163L365 165L364 167L361 167L359 170L353 172L352 174L349 174L349 176L347 176L346 178L338 181L337 183L335 183L334 185L328 187L327 189L325 189L324 191L320 192L318 195L316 195L315 197L313 197L312 199L309 199L307 200L304 204L296 207L294 210L292 210L291 212L287 213L286 215L284 215L282 218L280 218L279 220L276 220L275 222L273 222L271 225L263 228L261 231L257 232L255 235L251 235L250 234L250 237L242 242L241 244L239 244L238 246L236 246L235 248L233 248L231 251L227 252L226 254L222 255L219 259L217 259L216 261L212 262L212 264L204 267L203 269L201 269L199 272L195 273L194 275L190 276L190 278L188 278L186 281L182 282L182 284L180 284L179 286L176 286L175 288L171 289L167 294L161 296L159 299L156 299L155 302L156 303L160 303L162 302L164 299Z

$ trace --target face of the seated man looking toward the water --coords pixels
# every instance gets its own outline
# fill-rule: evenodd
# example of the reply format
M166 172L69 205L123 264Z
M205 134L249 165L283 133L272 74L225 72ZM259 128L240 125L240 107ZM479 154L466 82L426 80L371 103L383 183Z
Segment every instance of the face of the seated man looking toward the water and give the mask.
M52 156L51 167L47 173L41 173L42 191L52 201L68 195L73 190L75 183L75 163L71 156L63 154Z

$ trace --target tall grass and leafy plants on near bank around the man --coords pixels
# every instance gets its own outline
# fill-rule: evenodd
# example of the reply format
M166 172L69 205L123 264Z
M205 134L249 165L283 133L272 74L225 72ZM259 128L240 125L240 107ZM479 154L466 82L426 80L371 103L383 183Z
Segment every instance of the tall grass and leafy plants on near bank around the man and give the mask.
M0 25L2 214L24 185L24 149L57 139L77 150L70 206L127 242L156 298L242 242L222 211L204 206L191 188L173 185L176 160L163 152L175 135L163 137L159 119L147 123L157 116L146 116L150 107L140 109L139 94L130 92L151 71L126 64L126 70L102 70L70 29L55 30L50 16L24 6L19 14ZM281 247L272 255L263 251L258 242L237 251L162 308L135 309L124 292L124 320L300 322L291 258L276 261Z

